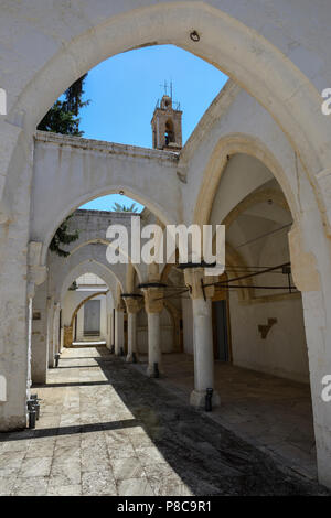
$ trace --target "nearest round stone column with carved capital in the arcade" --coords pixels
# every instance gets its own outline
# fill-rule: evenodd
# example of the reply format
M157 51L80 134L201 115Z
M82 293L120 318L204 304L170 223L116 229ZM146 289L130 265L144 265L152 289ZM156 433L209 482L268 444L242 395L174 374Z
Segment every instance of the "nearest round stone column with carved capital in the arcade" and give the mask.
M213 288L203 293L201 281L213 282L213 277L204 278L203 268L188 268L185 283L190 287L193 306L194 390L190 403L204 407L207 388L214 388L214 350L212 328ZM213 406L220 404L217 392L213 392Z

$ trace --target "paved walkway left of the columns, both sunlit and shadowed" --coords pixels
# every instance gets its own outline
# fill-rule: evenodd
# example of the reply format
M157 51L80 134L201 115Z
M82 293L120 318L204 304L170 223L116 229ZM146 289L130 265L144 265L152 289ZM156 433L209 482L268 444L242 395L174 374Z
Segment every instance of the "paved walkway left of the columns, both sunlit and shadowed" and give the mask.
M0 435L2 495L325 493L104 347L66 349L38 393L38 428Z

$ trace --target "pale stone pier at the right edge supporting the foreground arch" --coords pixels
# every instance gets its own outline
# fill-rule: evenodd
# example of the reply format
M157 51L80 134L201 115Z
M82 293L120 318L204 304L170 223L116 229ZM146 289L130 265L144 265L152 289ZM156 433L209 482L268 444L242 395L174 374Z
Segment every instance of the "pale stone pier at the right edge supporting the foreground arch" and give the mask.
M302 222L302 227L296 224L289 233L291 269L295 284L302 294L318 477L331 488L330 237L325 242L319 231L317 213L303 214Z

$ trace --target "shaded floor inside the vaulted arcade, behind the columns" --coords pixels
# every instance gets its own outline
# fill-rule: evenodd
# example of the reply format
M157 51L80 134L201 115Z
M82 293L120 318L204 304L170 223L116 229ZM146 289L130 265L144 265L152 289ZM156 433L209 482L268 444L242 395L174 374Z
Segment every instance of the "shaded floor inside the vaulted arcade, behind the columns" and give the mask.
M135 366L146 371L147 357ZM192 355L163 355L164 377L158 380L184 401L194 386ZM289 468L317 478L310 387L288 379L215 361L221 406L210 418L268 452Z

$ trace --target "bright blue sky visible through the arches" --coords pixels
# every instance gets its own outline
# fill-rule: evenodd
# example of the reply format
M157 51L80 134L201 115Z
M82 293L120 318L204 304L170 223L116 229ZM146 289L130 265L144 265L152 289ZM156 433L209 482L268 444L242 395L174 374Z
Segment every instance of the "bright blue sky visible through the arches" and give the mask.
M118 54L88 73L85 98L90 104L81 112L81 129L87 139L151 148L150 121L164 94L160 85L172 80L173 99L183 110L185 143L226 79L214 66L173 45ZM113 194L81 208L109 211L114 202L131 203L128 199Z

